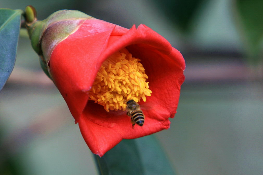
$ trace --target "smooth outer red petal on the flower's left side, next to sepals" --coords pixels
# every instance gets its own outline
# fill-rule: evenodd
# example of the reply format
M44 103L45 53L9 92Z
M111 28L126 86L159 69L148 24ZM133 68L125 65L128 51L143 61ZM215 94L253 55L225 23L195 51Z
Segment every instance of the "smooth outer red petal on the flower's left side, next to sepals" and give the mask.
M88 28L91 24L100 28ZM52 78L76 123L86 106L87 92L100 67L98 58L107 46L115 26L102 20L86 20L74 34L60 42L51 54L49 66Z

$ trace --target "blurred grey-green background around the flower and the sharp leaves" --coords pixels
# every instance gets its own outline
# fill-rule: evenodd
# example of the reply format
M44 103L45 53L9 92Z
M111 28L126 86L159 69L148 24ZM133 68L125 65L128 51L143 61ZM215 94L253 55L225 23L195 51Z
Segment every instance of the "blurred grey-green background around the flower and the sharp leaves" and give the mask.
M177 114L169 130L155 134L178 174L263 173L263 1L0 0L1 8L27 5L39 20L76 9L160 33L186 61ZM0 149L0 174L97 174L62 96L23 37L0 93Z

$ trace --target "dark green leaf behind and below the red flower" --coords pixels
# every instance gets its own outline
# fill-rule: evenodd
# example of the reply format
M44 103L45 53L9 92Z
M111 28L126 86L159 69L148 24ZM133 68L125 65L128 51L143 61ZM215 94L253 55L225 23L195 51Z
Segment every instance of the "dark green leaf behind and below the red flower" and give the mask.
M102 175L176 174L153 135L122 140L103 157L95 155L95 161Z

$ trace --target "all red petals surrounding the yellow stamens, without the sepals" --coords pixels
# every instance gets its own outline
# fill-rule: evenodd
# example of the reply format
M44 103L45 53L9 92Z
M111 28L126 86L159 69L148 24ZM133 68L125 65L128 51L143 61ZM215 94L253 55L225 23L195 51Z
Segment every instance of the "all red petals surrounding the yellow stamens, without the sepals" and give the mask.
M95 30L94 26L104 30ZM103 61L123 47L141 59L153 91L146 99L151 109L142 109L145 123L143 127L136 125L135 129L126 114L106 112L103 106L93 101L87 104L85 93L92 86ZM77 32L59 43L50 58L53 80L79 122L90 150L99 156L123 138L142 137L169 128L168 118L176 112L184 69L182 55L145 25L128 30L95 19L87 20Z

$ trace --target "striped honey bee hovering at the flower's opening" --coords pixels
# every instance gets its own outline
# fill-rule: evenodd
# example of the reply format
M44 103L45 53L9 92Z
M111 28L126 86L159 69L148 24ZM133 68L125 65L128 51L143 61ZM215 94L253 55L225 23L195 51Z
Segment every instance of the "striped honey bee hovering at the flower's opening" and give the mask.
M135 123L143 126L144 114L143 111L140 110L140 105L134 100L129 100L126 104L127 115L131 117L132 128L134 129Z

